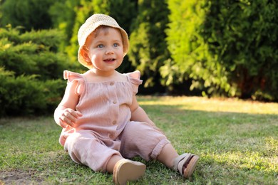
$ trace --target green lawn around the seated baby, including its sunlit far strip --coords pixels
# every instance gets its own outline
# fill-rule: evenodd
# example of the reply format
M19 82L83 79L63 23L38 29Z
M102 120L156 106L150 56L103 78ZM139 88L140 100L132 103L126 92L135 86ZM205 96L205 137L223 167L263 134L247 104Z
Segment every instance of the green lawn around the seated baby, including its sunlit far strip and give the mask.
M177 152L200 162L185 180L159 162L130 184L277 184L278 103L205 97L139 97ZM58 144L53 117L0 119L0 184L112 184L75 164ZM143 162L139 157L135 158Z

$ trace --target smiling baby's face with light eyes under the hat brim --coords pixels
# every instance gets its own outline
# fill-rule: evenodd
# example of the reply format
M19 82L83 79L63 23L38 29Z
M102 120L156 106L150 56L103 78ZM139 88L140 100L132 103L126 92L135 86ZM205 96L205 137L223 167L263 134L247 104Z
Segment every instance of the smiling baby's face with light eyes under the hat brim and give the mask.
M86 55L99 75L114 72L123 62L123 39L117 28L105 27L88 37Z

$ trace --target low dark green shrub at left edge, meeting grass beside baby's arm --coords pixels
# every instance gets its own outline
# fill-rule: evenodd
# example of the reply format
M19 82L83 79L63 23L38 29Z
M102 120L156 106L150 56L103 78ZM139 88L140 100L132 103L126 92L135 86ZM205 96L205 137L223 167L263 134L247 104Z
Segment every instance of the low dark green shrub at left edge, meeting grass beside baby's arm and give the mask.
M1 116L47 115L61 101L63 80L36 79L36 75L18 77L0 68Z

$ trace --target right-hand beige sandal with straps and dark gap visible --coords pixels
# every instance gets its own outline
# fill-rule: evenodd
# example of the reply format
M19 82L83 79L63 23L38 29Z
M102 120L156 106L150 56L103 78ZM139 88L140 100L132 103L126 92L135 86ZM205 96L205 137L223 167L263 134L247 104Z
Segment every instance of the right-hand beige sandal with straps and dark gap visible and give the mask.
M195 154L182 154L175 159L173 169L180 171L180 174L188 179L193 174L198 159Z

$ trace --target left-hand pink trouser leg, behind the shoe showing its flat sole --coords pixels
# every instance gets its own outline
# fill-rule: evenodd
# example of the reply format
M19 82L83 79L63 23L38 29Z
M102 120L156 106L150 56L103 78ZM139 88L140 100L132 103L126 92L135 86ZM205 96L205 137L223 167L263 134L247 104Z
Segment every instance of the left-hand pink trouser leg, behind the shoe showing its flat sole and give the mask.
M68 136L65 150L78 164L89 166L93 171L106 171L106 165L113 154L120 153L106 147L93 132L81 130Z

